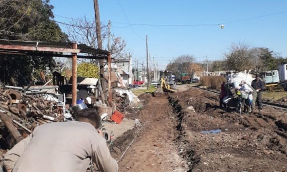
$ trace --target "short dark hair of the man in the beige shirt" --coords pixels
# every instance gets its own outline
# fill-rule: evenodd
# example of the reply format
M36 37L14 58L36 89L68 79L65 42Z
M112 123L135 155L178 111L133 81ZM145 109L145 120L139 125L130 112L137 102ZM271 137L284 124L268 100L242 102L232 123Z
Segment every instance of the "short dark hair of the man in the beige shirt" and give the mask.
M96 109L87 108L82 109L78 112L76 115L76 119L78 121L82 121L85 119L90 120L90 122L94 123L96 125L96 128L98 129L101 125L101 117Z

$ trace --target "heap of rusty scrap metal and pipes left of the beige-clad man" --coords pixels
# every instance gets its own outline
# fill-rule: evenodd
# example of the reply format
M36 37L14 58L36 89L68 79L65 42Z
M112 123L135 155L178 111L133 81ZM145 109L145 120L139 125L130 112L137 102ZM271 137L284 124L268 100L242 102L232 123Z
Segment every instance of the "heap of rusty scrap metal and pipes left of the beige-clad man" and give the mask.
M41 124L63 122L64 103L48 94L28 94L27 91L0 87L0 134L6 140L6 148L27 137ZM19 135L20 134L20 135ZM21 137L22 136L22 137ZM3 149L5 147L1 144Z

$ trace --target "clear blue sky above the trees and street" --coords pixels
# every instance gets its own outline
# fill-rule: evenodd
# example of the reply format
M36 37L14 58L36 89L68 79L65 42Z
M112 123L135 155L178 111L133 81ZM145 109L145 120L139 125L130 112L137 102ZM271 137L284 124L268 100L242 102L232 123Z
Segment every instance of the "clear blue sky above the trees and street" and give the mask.
M245 42L254 47L266 47L287 57L287 1L286 0L98 0L100 20L112 23L112 32L127 42L133 58L142 62L146 57L145 38L151 56L164 66L174 57L191 54L197 61L224 58L232 42ZM220 26L185 27L125 27L128 23L119 1L132 24L194 25L221 24ZM68 22L65 17L94 19L93 0L51 0L55 6L55 20ZM285 13L233 22L261 15ZM124 28L123 28L124 27Z

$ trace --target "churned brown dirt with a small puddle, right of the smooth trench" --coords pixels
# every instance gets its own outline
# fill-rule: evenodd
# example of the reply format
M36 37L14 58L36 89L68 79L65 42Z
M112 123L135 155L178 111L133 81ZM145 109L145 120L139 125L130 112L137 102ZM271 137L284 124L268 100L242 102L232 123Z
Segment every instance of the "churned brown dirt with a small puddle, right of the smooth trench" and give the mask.
M170 95L169 101L179 114L178 144L190 171L287 170L286 111L224 111L217 95L196 88Z

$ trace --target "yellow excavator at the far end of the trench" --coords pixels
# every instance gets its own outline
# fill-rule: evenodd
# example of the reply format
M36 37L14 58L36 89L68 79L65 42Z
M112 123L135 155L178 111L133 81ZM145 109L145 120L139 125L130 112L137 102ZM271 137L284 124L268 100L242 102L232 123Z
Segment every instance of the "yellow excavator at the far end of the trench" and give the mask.
M164 92L176 92L174 89L175 82L172 79L170 71L160 71L161 84L160 87Z

